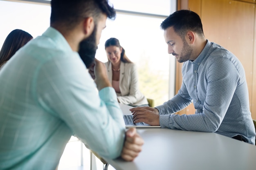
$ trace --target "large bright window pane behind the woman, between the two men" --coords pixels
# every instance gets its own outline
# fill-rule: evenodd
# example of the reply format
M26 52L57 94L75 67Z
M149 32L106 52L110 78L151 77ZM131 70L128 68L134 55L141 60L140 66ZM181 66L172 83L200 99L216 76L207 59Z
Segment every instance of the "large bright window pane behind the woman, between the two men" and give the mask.
M155 105L168 100L169 54L160 24L164 19L117 13L108 20L96 53L98 60L107 62L104 44L108 38L117 38L127 57L136 64L139 88L146 98L155 99Z

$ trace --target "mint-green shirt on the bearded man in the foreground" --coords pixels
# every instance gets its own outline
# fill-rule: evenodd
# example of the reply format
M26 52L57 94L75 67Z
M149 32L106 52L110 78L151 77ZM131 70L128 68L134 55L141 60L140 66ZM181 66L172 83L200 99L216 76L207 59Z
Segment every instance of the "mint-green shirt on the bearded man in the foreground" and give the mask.
M125 125L112 87L97 91L57 30L31 40L0 71L0 169L54 170L71 135L120 155Z

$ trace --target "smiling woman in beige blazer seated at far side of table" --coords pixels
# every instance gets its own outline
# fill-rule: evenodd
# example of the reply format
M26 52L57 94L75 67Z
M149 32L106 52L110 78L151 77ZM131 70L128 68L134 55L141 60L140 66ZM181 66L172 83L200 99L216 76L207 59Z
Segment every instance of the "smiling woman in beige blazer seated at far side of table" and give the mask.
M139 91L136 66L125 55L119 40L108 39L105 50L108 56L108 62L105 63L108 79L117 93L118 102L131 106L148 106L146 97Z

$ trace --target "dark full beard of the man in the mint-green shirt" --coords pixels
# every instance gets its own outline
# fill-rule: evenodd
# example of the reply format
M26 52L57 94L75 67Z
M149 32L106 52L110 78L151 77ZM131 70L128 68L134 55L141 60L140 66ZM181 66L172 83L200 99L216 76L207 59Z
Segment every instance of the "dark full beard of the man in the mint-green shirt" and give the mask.
M96 44L96 32L97 25L94 26L92 34L85 40L81 41L79 44L78 53L86 68L89 68L95 60L95 54L98 49Z

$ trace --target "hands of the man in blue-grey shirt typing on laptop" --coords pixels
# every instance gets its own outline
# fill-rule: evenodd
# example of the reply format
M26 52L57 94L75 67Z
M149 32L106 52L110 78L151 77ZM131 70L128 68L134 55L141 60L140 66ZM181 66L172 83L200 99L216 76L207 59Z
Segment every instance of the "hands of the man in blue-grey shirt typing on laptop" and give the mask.
M133 115L133 123L144 122L151 126L160 126L159 111L151 107L130 108Z

